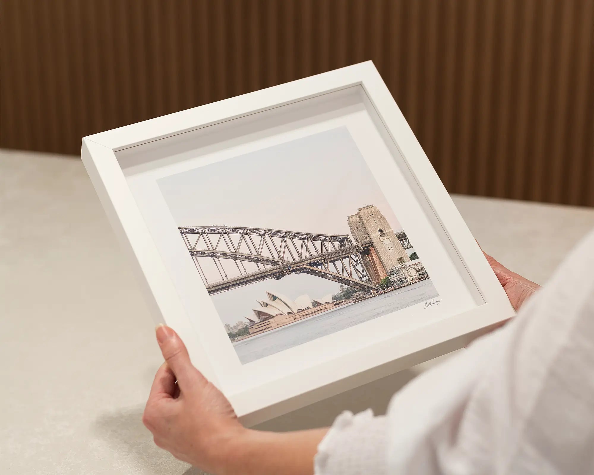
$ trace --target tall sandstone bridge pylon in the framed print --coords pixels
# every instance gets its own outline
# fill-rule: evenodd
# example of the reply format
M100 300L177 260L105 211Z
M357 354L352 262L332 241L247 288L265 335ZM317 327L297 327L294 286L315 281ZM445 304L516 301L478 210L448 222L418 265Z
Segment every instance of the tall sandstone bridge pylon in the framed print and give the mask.
M397 267L400 258L410 261L390 223L374 205L359 208L357 214L348 217L348 222L355 243L371 243L361 257L372 284L377 285L387 277L387 270Z

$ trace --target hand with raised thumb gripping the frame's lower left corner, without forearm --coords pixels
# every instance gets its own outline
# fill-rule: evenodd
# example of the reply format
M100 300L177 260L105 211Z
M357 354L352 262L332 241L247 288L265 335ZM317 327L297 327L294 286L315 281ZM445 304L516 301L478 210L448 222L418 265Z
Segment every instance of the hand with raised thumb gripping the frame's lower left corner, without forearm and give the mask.
M156 335L165 363L155 375L143 423L160 448L219 473L231 442L247 429L222 392L194 368L178 334L159 325Z

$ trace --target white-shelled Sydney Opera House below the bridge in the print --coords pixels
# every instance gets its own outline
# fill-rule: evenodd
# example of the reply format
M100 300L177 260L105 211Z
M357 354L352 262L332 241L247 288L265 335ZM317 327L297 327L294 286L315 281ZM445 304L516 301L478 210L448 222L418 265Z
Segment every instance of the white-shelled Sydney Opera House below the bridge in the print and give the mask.
M266 292L265 300L258 300L258 306L252 311L254 316L245 318L249 321L249 334L263 333L282 327L308 316L321 314L334 307L349 303L348 300L333 302L332 294L321 299L311 299L307 294L291 300L280 293Z

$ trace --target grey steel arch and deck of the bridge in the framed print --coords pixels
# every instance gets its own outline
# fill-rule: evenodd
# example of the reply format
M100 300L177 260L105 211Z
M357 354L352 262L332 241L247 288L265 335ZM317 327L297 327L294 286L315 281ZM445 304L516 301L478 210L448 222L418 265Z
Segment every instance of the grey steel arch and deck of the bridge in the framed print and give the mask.
M235 226L179 227L179 232L210 295L301 273L359 290L374 288L362 263L371 239L355 243L348 235ZM412 248L403 231L396 238L403 249ZM218 276L207 278L205 264L208 274Z

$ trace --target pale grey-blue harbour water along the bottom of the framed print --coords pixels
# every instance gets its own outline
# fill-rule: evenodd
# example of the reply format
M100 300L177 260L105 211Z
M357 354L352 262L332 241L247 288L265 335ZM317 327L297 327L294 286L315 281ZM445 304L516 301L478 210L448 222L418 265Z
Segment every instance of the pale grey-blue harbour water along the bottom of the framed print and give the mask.
M431 279L311 316L233 344L242 364L437 297Z

